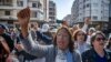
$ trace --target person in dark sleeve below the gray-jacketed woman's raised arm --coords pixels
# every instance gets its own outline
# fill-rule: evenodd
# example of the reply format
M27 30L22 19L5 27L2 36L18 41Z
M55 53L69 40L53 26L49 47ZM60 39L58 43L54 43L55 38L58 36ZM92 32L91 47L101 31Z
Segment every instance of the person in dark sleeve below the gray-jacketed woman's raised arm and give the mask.
M16 49L17 49L16 56L19 60L19 62L38 62L38 61L46 62L44 59L37 58L26 52L22 43L18 43L16 45Z

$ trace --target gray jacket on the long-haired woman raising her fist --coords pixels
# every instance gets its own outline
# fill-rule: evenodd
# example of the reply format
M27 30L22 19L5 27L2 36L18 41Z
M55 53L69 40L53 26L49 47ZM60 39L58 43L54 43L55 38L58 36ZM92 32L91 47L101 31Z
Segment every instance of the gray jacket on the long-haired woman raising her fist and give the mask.
M34 43L31 38L31 34L23 39L21 38L21 42L24 45L24 50L38 58L46 58L46 62L56 62L57 49L54 45L41 45ZM73 62L81 62L81 56L73 51Z

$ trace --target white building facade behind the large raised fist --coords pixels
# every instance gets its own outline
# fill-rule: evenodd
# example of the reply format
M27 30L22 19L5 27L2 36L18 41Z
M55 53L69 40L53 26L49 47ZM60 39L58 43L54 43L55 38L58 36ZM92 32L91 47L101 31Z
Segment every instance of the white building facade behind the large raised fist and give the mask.
M0 22L13 23L17 12L26 7L31 9L31 21L43 20L43 0L0 0Z

